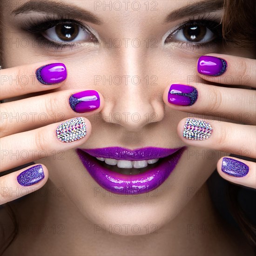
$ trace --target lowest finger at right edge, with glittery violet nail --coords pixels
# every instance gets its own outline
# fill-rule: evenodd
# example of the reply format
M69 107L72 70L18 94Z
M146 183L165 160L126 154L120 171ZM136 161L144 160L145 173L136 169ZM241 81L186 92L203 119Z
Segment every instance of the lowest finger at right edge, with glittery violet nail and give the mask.
M256 163L235 157L222 157L217 164L218 173L229 182L256 189Z

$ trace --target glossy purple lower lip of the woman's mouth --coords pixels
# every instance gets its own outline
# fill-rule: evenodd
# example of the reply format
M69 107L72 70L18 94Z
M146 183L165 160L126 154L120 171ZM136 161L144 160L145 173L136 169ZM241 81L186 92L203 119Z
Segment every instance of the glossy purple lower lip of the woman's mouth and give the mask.
M166 157L157 167L136 175L124 175L102 167L94 157L81 149L76 152L84 167L94 180L104 189L120 195L138 195L158 188L174 170L182 156L183 148Z

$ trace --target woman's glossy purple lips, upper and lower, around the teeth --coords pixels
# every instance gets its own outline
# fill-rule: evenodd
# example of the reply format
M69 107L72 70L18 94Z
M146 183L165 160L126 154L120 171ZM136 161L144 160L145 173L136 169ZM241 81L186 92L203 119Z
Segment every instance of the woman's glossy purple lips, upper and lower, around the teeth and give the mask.
M76 149L84 167L93 179L104 189L121 195L138 195L158 188L174 170L182 153L182 148L97 148ZM146 172L136 175L124 175L103 167L94 157L113 158L116 160L149 160L162 158L162 162Z

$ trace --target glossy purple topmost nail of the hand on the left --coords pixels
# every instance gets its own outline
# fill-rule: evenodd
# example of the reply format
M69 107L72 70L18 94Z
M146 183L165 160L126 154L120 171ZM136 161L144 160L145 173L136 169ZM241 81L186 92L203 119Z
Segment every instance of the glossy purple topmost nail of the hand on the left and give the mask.
M46 85L60 83L67 78L67 69L63 63L53 63L39 67L35 73L37 80Z

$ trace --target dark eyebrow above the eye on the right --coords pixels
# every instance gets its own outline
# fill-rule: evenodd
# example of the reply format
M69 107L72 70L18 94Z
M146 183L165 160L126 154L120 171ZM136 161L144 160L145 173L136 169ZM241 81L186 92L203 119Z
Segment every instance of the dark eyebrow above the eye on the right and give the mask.
M223 8L223 0L207 1L187 1L186 7L181 7L167 15L165 22L180 20L188 16L194 16L201 13L211 13ZM190 4L193 3L193 4Z

